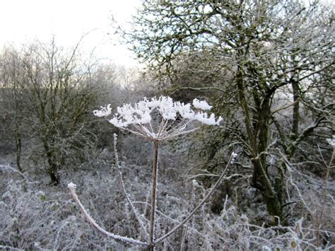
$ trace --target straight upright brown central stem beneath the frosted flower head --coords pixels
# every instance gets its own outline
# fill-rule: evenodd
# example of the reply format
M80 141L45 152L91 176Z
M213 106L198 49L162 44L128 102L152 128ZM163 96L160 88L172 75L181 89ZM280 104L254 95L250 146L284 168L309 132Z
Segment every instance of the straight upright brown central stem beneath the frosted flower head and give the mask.
M150 229L149 229L149 240L148 250L153 250L153 235L155 228L155 208L156 208L156 188L157 188L157 173L158 173L158 141L154 142L153 150L153 182L151 189L151 215L150 215Z

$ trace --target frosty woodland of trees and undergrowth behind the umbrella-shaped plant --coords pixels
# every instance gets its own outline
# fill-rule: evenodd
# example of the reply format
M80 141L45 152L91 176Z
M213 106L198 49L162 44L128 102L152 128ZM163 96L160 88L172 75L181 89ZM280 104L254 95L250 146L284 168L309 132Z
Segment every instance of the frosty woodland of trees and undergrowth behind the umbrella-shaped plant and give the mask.
M78 185L105 229L139 238L112 135L119 134L124 180L143 217L153 146L93 110L110 103L116 112L159 95L207 100L224 121L161 148L158 233L182 221L238 154L214 196L160 249L334 248L334 8L143 1L131 28L111 21L111 29L143 69L102 63L81 41L64 48L57 37L1 49L1 249L140 249L90 228L66 185Z

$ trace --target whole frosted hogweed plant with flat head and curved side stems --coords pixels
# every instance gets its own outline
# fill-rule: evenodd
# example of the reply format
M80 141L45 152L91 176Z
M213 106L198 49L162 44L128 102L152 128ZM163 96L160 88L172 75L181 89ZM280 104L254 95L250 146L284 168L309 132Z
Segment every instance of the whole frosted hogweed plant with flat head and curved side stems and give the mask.
M152 176L152 185L151 185L151 216L149 223L149 231L148 235L146 234L146 229L144 229L143 222L139 217L137 209L135 209L134 205L130 202L129 196L127 195L127 191L124 187L124 183L122 180L122 173L119 169L118 159L117 159L117 150L116 150L116 135L114 135L114 155L115 155L115 165L117 166L120 178L122 180L122 187L124 193L126 194L127 201L131 204L131 209L133 210L136 219L139 221L141 228L148 238L147 242L142 242L140 240L134 240L131 238L120 238L119 236L115 236L112 233L107 232L100 228L95 221L87 214L87 211L83 208L83 205L79 201L78 197L75 193L75 185L73 183L69 184L69 189L71 190L71 194L76 200L79 208L83 211L84 216L88 219L88 221L101 233L105 233L112 238L116 238L118 240L123 240L128 243L134 243L139 245L144 245L148 247L148 250L153 250L155 245L160 243L162 240L170 236L172 233L182 227L184 223L189 221L189 218L195 213L197 209L200 208L202 204L206 202L206 200L211 196L214 189L218 187L218 184L225 177L225 172L228 170L228 166L232 163L233 158L236 157L235 153L230 156L230 160L226 165L225 169L221 177L219 177L216 184L212 187L211 191L208 192L206 197L201 201L201 203L194 207L194 209L189 213L189 215L184 218L179 225L175 226L168 233L165 233L160 238L155 239L155 210L156 210L156 191L157 191L157 175L158 175L158 146L161 141L167 141L175 138L176 136L180 136L182 134L188 134L190 132L194 132L197 127L189 128L189 124L192 122L197 122L198 124L207 124L207 125L218 125L223 120L222 117L218 117L216 119L213 113L208 114L207 111L211 110L211 105L208 105L205 100L197 100L194 99L192 105L190 103L184 104L180 102L173 101L170 97L160 96L159 98L151 98L148 100L147 98L143 98L143 100L135 103L134 105L125 104L122 107L117 107L117 113L115 113L112 118L108 119L112 115L112 109L110 105L106 107L100 107L100 110L94 110L93 114L97 117L106 117L108 121L113 124L115 127L122 129L124 131L128 131L139 136L143 136L144 138L152 141L154 144L153 149L153 176Z

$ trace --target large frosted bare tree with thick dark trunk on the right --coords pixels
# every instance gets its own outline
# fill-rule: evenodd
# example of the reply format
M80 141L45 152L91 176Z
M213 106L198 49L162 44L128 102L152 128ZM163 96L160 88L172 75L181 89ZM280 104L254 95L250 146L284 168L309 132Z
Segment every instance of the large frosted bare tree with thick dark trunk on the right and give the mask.
M169 76L175 92L200 91L227 115L213 156L225 145L223 135L233 136L252 164L252 186L269 214L283 219L289 203L281 153L292 161L316 129L329 134L334 103L324 98L320 105L322 96L314 95L331 88L323 80L334 66L333 17L318 2L296 0L146 1L133 28L117 30L149 70ZM303 110L313 120L302 119Z

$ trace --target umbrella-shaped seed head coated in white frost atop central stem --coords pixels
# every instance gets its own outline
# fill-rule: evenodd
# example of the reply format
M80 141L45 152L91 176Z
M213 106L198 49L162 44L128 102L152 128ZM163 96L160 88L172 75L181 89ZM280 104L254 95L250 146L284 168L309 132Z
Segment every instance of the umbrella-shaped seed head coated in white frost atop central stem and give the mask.
M192 105L175 102L172 98L165 96L151 98L151 100L144 98L134 105L126 104L117 107L117 113L109 121L115 127L139 134L151 141L163 141L194 131L195 129L186 128L189 122L198 121L202 124L217 125L223 120L222 117L216 119L213 113L208 115L205 112L211 110L211 105L204 100L195 98ZM157 117L155 111L160 115L158 123L153 122ZM97 117L107 117L112 114L112 110L110 105L107 105L93 111L93 114Z

